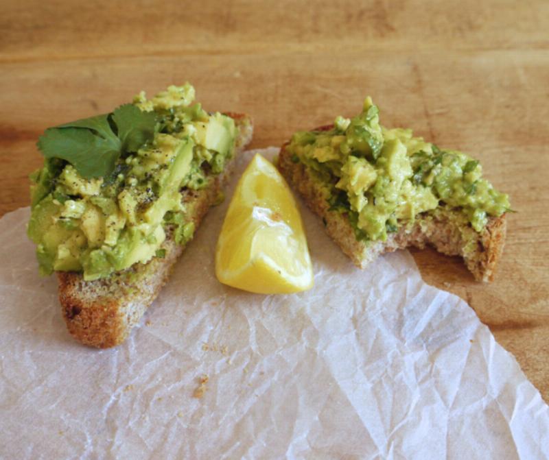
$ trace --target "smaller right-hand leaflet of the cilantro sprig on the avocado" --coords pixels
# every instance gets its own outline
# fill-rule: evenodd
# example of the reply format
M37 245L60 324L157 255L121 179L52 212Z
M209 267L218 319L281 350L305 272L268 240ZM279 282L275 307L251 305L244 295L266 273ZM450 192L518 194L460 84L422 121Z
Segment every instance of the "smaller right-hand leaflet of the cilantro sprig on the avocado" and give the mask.
M139 147L154 136L156 114L141 112L132 104L124 104L113 112L118 128L118 138L126 152L137 152Z

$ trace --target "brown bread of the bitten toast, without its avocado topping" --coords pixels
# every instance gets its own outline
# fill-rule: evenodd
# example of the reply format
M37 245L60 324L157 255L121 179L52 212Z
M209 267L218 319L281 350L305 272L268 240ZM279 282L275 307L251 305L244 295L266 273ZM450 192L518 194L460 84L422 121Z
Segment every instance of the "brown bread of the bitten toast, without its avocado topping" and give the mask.
M326 131L331 125L316 128ZM307 206L325 223L326 232L360 268L377 256L415 246L433 246L448 256L461 256L478 281L491 281L503 251L506 234L506 215L489 217L482 232L476 232L460 210L441 206L435 212L418 215L410 226L401 226L388 234L386 241L358 241L346 213L331 210L318 181L301 162L293 162L285 143L279 154L278 167L284 178L299 191Z

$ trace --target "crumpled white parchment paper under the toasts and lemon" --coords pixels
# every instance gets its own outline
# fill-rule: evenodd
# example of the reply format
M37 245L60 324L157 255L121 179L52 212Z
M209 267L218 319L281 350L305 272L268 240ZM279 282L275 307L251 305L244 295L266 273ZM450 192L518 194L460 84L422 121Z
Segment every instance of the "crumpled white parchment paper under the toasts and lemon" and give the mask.
M1 219L2 459L549 457L537 389L407 252L361 271L302 206L314 289L245 293L213 271L228 202L110 350L67 333L25 236L28 208Z

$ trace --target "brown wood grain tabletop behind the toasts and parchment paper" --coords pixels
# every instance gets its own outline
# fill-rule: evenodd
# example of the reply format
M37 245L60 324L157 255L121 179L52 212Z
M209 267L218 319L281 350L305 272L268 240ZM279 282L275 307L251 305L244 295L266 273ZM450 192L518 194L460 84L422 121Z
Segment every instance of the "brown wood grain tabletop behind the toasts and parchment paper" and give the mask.
M29 204L35 142L141 89L188 80L210 110L255 119L252 147L352 115L479 158L511 195L495 282L413 251L549 401L549 2L8 1L0 6L0 215Z

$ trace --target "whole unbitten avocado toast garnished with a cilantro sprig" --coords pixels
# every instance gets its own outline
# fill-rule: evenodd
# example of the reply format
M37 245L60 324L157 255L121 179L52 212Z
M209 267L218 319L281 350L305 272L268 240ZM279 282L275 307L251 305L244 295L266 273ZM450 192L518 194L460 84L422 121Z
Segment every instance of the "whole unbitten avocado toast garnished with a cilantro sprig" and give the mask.
M126 337L152 304L253 126L193 104L194 88L46 130L32 176L28 234L42 274L56 271L62 314L78 341Z

